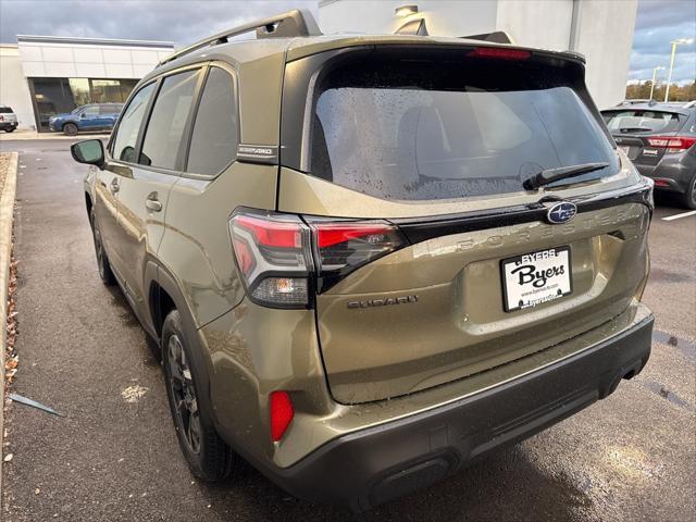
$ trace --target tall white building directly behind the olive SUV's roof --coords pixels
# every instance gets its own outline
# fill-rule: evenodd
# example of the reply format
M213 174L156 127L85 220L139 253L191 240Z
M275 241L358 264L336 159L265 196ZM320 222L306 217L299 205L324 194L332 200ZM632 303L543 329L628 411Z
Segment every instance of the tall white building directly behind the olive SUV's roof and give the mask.
M521 46L580 52L587 60L589 92L606 109L624 99L637 5L638 0L320 0L319 26L326 34L391 34L406 24L434 36L505 32Z

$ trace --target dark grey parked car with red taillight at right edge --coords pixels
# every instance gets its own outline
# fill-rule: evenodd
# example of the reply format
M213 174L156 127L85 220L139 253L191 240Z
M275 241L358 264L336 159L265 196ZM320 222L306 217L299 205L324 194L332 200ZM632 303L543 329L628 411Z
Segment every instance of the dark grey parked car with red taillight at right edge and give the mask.
M602 111L619 148L655 188L696 209L696 102L635 104Z

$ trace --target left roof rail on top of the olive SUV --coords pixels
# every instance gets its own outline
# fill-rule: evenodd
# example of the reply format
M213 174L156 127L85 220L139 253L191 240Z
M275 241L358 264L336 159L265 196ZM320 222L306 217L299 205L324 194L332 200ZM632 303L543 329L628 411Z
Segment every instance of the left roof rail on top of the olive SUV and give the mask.
M256 30L257 38L290 38L295 36L321 36L319 25L312 13L307 9L295 9L287 13L270 16L268 18L254 20L237 27L223 30L216 35L204 38L196 44L191 44L184 49L181 49L173 54L170 54L165 59L161 60L158 66L164 65L172 60L176 60L185 54L189 54L194 51L202 49L204 47L212 47L219 44L226 44L228 38L239 36L245 33Z

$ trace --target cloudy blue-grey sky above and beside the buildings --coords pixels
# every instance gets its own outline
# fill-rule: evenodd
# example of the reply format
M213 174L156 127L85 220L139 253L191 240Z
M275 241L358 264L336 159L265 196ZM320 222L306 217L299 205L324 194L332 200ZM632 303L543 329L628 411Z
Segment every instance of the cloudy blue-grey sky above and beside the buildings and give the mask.
M612 0L620 2L622 0ZM244 21L294 8L316 13L316 0L0 0L0 41L15 35L127 38L190 44ZM693 0L638 0L629 82L669 67L670 41L696 37ZM667 71L660 71L666 79ZM680 46L672 80L696 78L696 45Z

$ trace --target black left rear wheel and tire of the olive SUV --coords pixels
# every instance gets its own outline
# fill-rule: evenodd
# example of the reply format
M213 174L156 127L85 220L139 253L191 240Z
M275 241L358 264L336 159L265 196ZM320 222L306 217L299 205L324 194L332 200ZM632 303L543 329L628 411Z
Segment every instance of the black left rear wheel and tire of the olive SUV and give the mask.
M191 473L207 482L225 478L235 456L213 426L207 398L198 393L200 380L176 310L162 326L162 361L176 437Z

